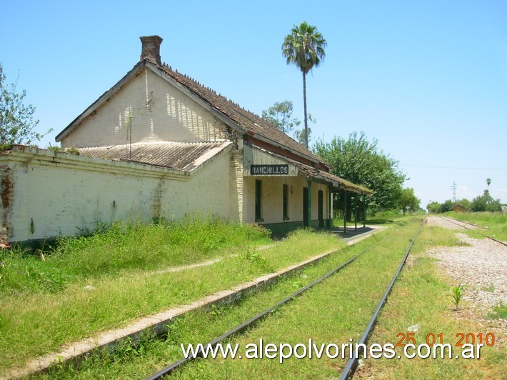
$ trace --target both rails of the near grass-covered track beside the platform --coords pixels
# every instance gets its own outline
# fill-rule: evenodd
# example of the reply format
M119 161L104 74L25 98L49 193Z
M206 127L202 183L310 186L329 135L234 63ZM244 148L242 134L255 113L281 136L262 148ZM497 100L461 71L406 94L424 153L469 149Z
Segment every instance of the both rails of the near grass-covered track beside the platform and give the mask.
M385 304L388 294L390 294L391 289L393 288L393 285L394 285L396 279L398 278L398 275L400 274L401 269L403 268L403 265L406 262L408 254L410 253L413 244L416 242L419 231L421 231L421 228L422 228L425 220L426 219L423 219L423 221L421 222L421 225L418 227L418 230L417 230L415 236L413 236L413 239L411 239L411 244L410 244L410 246L408 246L408 249L406 250L406 254L405 254L405 256L403 256L403 260L401 261L401 264L398 266L398 269L397 269L396 273L394 274L393 279L391 279L391 282L388 284L386 291L384 292L383 296L381 297L381 300L379 301L378 306L376 307L376 310L373 312L373 316L371 317L371 320L369 321L368 326L366 326L366 330L364 331L363 335L361 336L361 340L358 341L358 344L365 344L366 345L366 343L368 341L368 336L371 334L371 331L373 331L373 328L376 324L376 319L378 317L378 314L380 313L383 304ZM277 309L279 306L282 306L283 304L286 304L288 301L291 301L291 299L295 298L296 296L299 296L300 294L307 291L308 289L311 289L313 286L315 286L316 284L319 284L321 281L327 279L329 276L336 274L338 271L340 271L341 269L348 266L348 264L351 264L353 261L358 259L359 256L365 254L367 251L369 251L372 248L373 248L373 246L370 246L368 249L362 251L360 254L353 256L351 259L349 259L345 263L341 264L340 266L337 266L335 269L329 271L327 274L321 276L319 279L316 279L311 284L304 286L303 288L299 289L295 293L286 297L286 299L283 299L283 300L277 302L276 304L274 304L270 308L262 311L261 313L252 317L248 321L245 321L244 323L239 324L234 329L227 331L225 334L219 336L218 338L214 339L213 341L210 341L208 344L204 344L203 346L215 347L221 341L228 339L230 336L233 336L235 334L241 333L242 331L245 331L247 328L249 328L250 326L253 326L258 321L263 319L265 316L270 314L271 311ZM361 352L361 350L358 350L357 353L359 354L359 356L361 354L363 354ZM203 354L204 354L204 352L202 350L200 350L194 356L188 356L186 358L180 359L179 361L175 361L173 364L166 366L164 369L161 369L161 371L157 372L156 374L151 375L148 379L150 379L150 380L161 379L165 376L168 376L176 369L180 369L181 366L184 366L185 364L189 364L189 362L194 361L195 359L198 359L199 357L202 357ZM357 366L358 366L358 359L359 359L359 357L358 356L356 357L355 355L353 355L351 357L351 359L346 364L346 367L343 370L340 379L350 379L353 376L353 374L355 373Z

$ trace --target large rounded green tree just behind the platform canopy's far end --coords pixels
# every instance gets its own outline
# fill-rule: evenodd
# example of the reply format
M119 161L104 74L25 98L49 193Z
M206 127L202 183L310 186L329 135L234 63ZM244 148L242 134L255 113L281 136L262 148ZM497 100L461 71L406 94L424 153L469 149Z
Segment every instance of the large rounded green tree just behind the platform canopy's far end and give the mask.
M398 205L406 175L398 169L398 161L378 151L376 139L370 142L364 132L359 136L353 132L348 140L334 137L329 143L317 141L312 150L331 164L331 173L373 191L367 200L371 211L394 209ZM340 198L336 206L340 208L341 204ZM350 209L346 213L351 220Z

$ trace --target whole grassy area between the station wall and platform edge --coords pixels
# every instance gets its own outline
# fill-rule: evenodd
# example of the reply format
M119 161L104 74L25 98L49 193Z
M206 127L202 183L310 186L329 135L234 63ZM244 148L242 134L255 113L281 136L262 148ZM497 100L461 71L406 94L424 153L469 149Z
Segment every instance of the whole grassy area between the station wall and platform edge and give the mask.
M4 257L0 370L344 246L335 236L313 231L296 231L273 244L254 226L217 225L114 226L62 241L46 261L20 252ZM255 250L266 243L268 248ZM156 271L216 256L223 259L209 266Z

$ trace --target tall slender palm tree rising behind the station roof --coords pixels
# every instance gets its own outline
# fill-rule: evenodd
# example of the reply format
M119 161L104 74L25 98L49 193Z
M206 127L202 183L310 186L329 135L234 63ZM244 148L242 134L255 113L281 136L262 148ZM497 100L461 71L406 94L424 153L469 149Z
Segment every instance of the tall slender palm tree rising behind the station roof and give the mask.
M283 40L281 51L287 59L287 64L295 64L303 73L303 101L305 147L308 149L308 117L306 116L306 74L317 67L326 56L324 48L327 42L316 26L310 26L303 21L300 26L294 25L291 34Z

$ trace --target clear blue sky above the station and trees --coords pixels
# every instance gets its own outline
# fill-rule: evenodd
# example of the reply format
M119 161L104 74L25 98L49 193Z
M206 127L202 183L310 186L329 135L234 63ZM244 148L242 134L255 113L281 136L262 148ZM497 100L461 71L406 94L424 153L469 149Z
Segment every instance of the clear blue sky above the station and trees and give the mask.
M364 131L421 199L490 193L507 203L506 1L1 1L0 62L36 106L46 147L139 61L162 61L261 114L293 101L301 72L281 44L315 25L326 59L307 79L313 138ZM308 4L311 4L308 6Z

